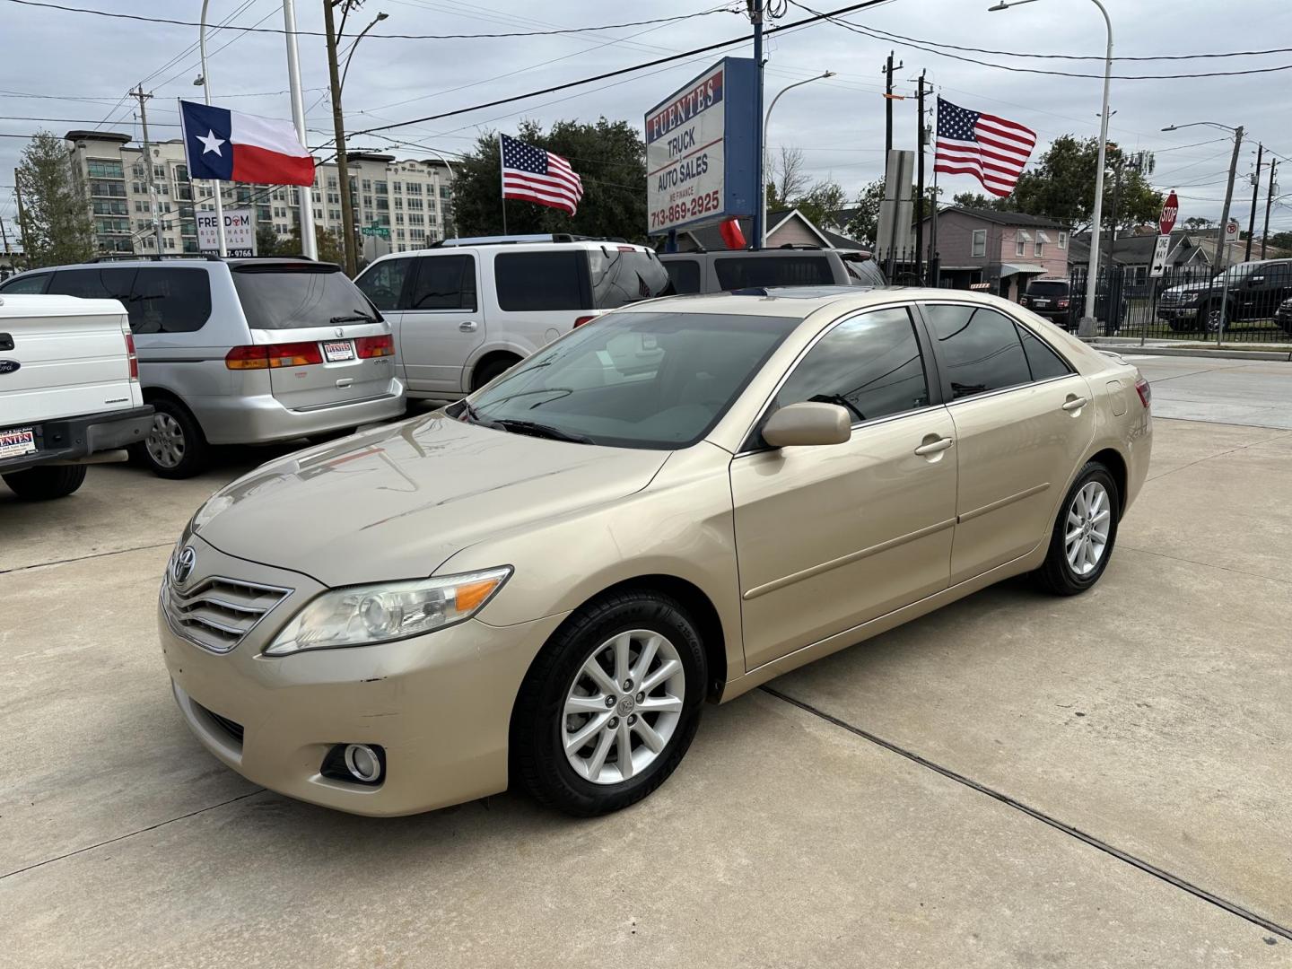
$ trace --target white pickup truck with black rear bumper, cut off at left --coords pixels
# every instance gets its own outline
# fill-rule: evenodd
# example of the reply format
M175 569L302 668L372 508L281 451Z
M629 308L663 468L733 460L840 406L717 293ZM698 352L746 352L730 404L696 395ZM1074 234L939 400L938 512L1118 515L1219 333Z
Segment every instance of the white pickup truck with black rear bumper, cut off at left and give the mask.
M0 296L0 478L18 497L72 494L151 426L120 302Z

